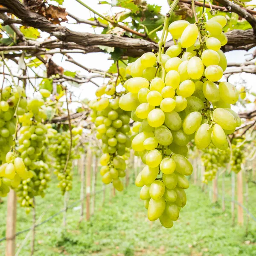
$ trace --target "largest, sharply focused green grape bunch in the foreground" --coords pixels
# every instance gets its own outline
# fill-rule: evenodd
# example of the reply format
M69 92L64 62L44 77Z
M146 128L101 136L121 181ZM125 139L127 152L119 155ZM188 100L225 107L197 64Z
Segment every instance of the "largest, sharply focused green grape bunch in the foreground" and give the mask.
M140 198L145 200L148 219L159 218L167 228L186 204L185 176L192 174L185 157L189 141L194 139L200 149L212 143L227 150L227 134L241 125L230 109L239 97L236 87L218 81L227 67L220 49L227 44L222 32L226 23L223 16L195 24L177 20L169 26L175 45L163 53L159 44L158 55L147 52L126 69L132 77L124 83L126 94L119 107L141 122L132 148L146 164L136 185L142 186Z

